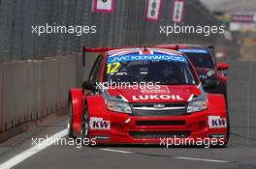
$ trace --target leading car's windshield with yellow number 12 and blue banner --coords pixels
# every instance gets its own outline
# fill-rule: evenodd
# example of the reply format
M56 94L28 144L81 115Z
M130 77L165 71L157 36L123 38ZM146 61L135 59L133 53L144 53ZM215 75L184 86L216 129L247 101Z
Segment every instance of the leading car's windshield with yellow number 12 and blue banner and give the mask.
M186 57L172 55L122 55L108 58L105 81L152 82L159 85L198 84Z

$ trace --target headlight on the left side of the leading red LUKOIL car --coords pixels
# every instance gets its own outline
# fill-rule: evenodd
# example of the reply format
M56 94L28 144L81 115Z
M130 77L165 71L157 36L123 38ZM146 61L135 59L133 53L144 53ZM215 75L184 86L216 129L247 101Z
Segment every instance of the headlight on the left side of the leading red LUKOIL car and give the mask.
M123 101L108 100L108 109L120 113L132 114L131 107L128 103Z

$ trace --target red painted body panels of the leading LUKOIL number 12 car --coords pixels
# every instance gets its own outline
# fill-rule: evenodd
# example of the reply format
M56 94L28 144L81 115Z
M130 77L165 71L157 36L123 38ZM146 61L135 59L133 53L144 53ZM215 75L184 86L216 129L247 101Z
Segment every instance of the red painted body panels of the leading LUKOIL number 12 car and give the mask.
M164 48L164 47L163 47ZM104 66L107 62L106 50L94 50L103 51ZM170 50L170 52L176 52ZM190 61L189 61L190 62ZM191 65L191 63L190 63ZM105 67L101 69L101 78L103 81ZM195 69L193 68L195 71ZM197 78L199 78L197 76ZM201 89L199 85L166 85L161 86L163 90L156 94L144 94L140 90L136 89L112 89L109 90L111 96L123 96L129 104L134 103L156 103L156 102L182 102L187 103L187 100L191 95L200 95ZM167 92L168 91L168 92ZM111 144L159 144L159 137L156 135L169 135L174 133L176 135L181 134L188 138L208 138L210 134L223 134L225 141L227 141L227 127L214 127L210 128L208 124L209 116L219 117L220 119L227 120L227 112L225 99L222 95L208 94L208 109L199 112L194 112L187 115L176 116L136 116L131 114L125 114L120 112L110 111L107 108L105 98L99 95L86 95L86 92L82 89L71 89L71 100L73 108L73 129L76 135L80 135L81 129L81 115L83 113L84 103L88 108L88 116L90 123L94 118L100 118L102 124L106 127L110 125L108 129L89 129L89 137L104 136L107 139L96 140L97 143L111 143ZM138 99L139 96L158 95L156 98ZM170 99L160 99L161 95L169 95ZM133 97L134 98L133 98ZM172 96L180 96L179 99L172 98ZM160 110L161 111L161 110ZM162 125L163 124L163 125ZM98 124L99 125L99 124ZM107 137L106 137L107 136ZM151 138L150 138L151 137Z

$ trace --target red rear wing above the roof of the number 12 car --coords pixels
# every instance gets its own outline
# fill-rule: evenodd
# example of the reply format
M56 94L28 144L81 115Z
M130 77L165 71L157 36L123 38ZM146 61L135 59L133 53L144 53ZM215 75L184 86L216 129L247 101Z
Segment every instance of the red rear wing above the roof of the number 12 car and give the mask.
M146 46L144 45L144 51L147 50L147 48L162 48L162 49L172 49L172 50L177 50L178 51L178 45L175 46ZM125 46L125 47L85 47L82 46L82 67L85 67L85 53L86 52L97 52L97 53L103 53L107 52L109 50L114 50L114 49L125 49L125 48L142 48L141 46Z

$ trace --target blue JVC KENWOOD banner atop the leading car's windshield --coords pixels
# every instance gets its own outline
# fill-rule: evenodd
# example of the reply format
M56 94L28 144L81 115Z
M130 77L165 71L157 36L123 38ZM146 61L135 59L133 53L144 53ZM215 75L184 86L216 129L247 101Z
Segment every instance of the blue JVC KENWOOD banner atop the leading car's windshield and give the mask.
M187 63L184 56L169 54L127 54L121 56L109 56L107 64L130 61L175 61Z

